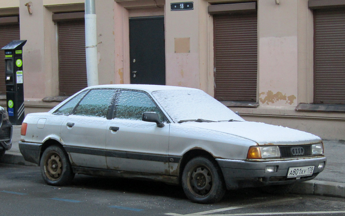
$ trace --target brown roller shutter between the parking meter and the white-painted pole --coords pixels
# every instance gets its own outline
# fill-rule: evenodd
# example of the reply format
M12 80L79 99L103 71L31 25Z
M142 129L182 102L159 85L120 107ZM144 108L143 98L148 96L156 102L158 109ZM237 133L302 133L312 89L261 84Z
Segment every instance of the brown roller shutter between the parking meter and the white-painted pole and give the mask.
M85 21L58 22L59 90L72 95L87 87Z

